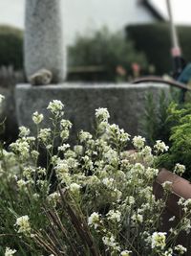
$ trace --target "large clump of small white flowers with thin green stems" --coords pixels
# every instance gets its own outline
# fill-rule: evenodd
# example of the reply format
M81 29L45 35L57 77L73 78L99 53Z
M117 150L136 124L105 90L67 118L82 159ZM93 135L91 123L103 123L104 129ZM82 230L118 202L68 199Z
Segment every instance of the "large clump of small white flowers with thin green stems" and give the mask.
M0 221L8 221L0 233L14 237L4 241L5 255L182 255L186 248L175 239L190 231L190 203L180 201L186 208L182 224L167 235L159 227L170 185L163 185L164 198L153 195L156 158L168 147L157 141L151 149L135 136L136 151L126 151L130 135L98 108L95 134L81 130L72 148L64 105L53 101L48 109L53 127L41 128L43 115L35 112L36 136L21 127L11 151L1 151ZM39 165L42 148L45 166Z

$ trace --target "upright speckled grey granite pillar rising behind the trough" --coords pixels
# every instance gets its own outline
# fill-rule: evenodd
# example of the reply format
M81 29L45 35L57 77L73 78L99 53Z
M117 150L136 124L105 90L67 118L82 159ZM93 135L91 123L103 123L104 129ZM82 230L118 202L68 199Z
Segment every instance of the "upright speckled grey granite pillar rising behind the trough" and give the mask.
M61 0L26 0L25 71L28 79L40 69L53 73L53 82L66 76Z

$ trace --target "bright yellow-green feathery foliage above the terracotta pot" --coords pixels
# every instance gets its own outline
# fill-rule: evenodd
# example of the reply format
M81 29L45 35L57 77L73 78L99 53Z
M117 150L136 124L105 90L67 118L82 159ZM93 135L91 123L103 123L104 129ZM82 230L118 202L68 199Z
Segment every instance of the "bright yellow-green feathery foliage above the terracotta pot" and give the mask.
M185 165L186 178L191 177L191 105L171 104L167 110L168 120L173 125L170 132L171 148L168 153L160 156L159 165L172 170L179 162Z

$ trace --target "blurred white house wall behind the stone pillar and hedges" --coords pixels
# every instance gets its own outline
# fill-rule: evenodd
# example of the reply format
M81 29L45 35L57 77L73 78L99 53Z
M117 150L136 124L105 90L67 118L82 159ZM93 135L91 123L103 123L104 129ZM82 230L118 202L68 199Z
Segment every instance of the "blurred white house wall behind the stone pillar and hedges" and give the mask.
M104 25L117 31L127 24L154 20L138 0L62 0L62 9L67 43L76 34L91 33ZM24 28L24 10L25 0L0 0L0 23Z

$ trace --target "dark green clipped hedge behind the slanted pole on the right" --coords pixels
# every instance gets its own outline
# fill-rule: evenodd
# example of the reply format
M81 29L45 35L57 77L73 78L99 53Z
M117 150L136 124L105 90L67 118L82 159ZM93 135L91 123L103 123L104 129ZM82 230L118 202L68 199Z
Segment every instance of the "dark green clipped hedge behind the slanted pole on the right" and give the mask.
M171 37L169 25L154 23L147 25L132 25L126 29L127 39L135 42L138 51L143 51L148 61L155 65L159 75L172 71ZM191 27L178 26L180 47L183 58L191 61Z

